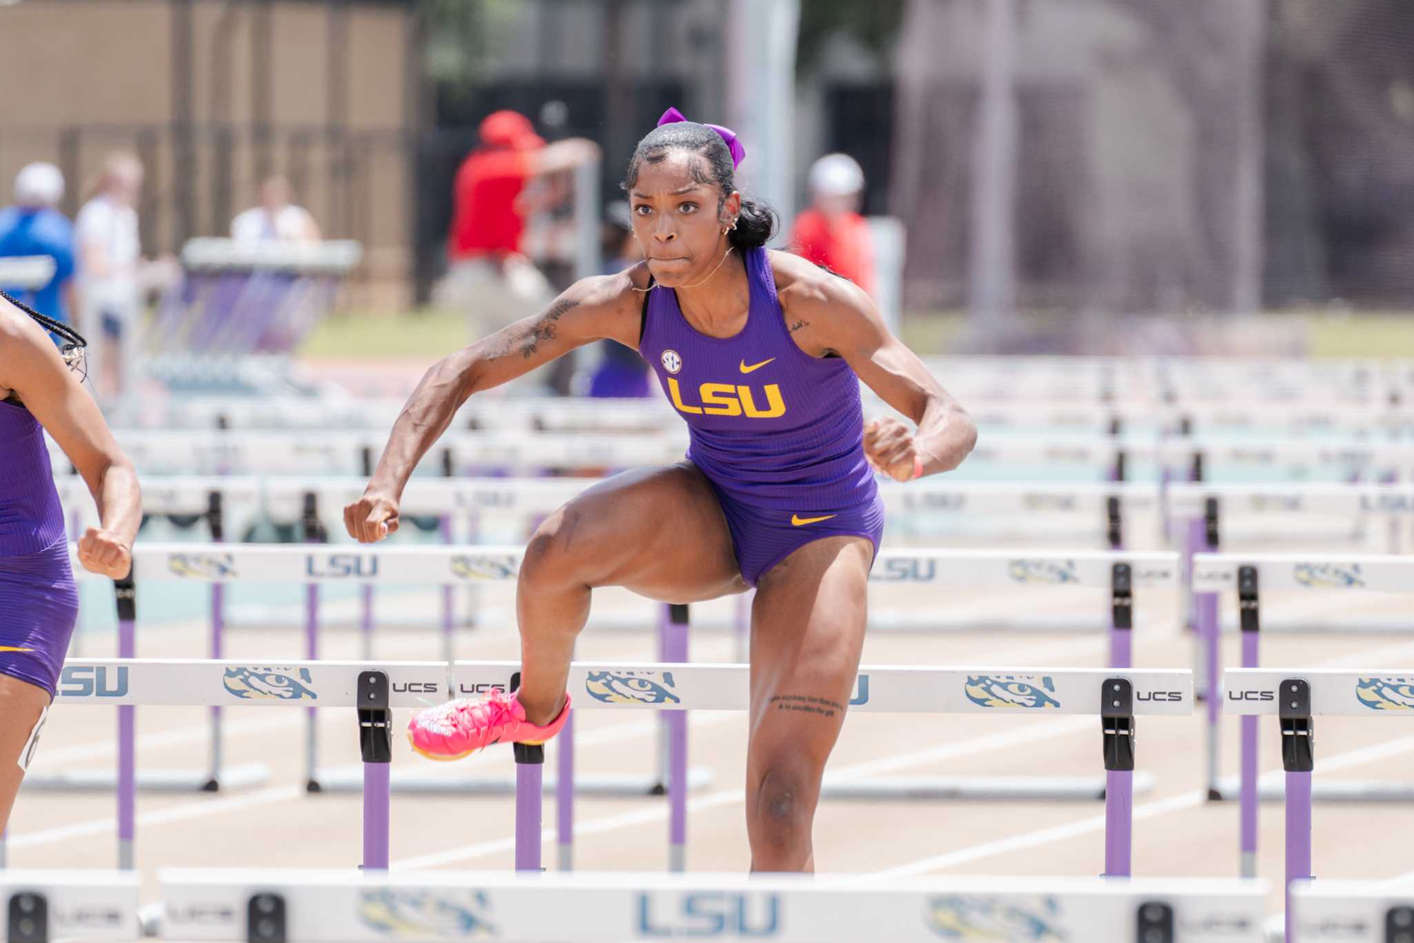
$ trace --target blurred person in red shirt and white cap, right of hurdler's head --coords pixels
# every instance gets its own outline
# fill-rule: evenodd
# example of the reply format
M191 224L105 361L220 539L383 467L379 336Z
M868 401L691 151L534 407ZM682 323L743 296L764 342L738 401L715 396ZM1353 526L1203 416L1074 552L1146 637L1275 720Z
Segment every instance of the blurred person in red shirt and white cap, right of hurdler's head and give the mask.
M790 247L874 295L874 245L860 215L864 171L848 154L810 165L810 208L796 216Z

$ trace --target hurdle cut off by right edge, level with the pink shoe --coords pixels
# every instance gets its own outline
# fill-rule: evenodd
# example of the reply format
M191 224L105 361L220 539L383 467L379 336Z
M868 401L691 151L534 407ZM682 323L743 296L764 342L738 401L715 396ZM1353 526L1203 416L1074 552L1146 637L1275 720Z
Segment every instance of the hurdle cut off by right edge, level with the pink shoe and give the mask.
M1275 714L1280 718L1281 765L1285 771L1285 888L1287 913L1292 912L1291 892L1311 874L1311 778L1315 771L1315 721L1328 717L1397 717L1414 720L1414 669L1304 672L1301 669L1232 669L1225 676L1227 710L1243 721ZM1256 765L1243 766L1241 823L1244 875L1247 843L1257 847ZM1251 810L1251 820L1246 810ZM1249 831L1251 833L1249 836ZM1287 922L1287 943L1298 937L1295 922ZM1414 933L1414 927L1406 927ZM1397 937L1396 937L1397 939Z

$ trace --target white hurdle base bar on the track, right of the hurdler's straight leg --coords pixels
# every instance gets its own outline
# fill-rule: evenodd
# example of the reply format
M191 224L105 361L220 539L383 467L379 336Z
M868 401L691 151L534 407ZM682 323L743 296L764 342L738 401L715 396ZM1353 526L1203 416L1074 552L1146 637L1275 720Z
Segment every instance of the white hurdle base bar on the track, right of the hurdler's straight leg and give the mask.
M1154 787L1154 775L1134 773L1134 793ZM1104 776L956 776L901 778L874 780L831 780L820 787L824 799L922 799L922 800L1011 800L1011 802L1102 802Z

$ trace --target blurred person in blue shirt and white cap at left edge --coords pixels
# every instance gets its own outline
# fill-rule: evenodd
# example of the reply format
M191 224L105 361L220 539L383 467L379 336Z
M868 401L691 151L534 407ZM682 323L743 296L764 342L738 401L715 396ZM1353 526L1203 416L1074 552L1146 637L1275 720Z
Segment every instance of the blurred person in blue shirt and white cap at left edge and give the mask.
M0 257L47 256L54 276L38 288L4 288L40 314L68 322L74 308L74 223L57 208L64 174L54 164L27 164L14 178L14 206L0 211Z

